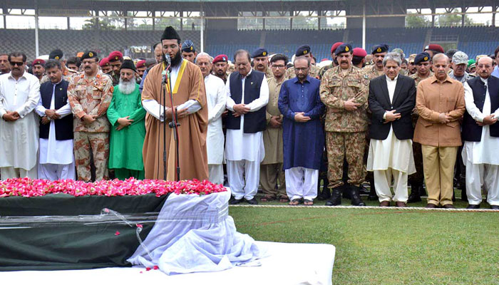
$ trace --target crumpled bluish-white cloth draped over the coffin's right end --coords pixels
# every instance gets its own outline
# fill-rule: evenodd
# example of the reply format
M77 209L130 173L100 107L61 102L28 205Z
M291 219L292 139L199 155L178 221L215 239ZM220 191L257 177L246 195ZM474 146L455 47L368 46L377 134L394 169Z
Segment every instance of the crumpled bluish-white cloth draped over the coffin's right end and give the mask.
M252 263L264 256L229 216L230 191L212 195L171 194L143 246L127 259L166 274L209 272ZM150 252L148 254L147 250Z

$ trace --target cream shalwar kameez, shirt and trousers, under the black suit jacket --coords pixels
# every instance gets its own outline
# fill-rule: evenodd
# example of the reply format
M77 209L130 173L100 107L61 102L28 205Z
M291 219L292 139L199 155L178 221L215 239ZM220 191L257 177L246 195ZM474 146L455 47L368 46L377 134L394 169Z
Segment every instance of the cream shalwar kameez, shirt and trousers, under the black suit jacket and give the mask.
M386 77L390 102L393 101L397 79L398 76L393 81ZM416 173L412 140L398 140L393 133L393 126L390 127L390 132L385 140L371 139L367 170L374 172L374 186L379 202L392 200L407 202L407 178L408 175ZM390 190L392 178L394 195L391 194Z

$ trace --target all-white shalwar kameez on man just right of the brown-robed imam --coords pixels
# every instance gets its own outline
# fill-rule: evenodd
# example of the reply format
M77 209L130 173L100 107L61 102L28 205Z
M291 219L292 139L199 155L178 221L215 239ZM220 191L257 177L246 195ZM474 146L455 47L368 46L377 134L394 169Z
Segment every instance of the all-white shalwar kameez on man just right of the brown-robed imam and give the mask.
M224 133L222 113L227 103L225 83L222 79L209 74L205 77L206 100L208 105L208 131L206 148L208 153L208 172L210 181L215 184L224 182Z

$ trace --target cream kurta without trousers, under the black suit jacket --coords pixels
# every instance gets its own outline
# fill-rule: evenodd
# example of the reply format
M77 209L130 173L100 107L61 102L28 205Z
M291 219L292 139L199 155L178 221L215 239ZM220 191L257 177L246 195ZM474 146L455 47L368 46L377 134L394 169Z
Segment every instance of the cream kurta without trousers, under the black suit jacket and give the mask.
M390 102L393 100L397 79L398 77L392 81L386 77ZM368 171L388 170L389 168L405 172L408 175L416 173L412 140L398 140L395 133L393 133L393 127L390 128L390 133L385 140L371 139L367 157Z

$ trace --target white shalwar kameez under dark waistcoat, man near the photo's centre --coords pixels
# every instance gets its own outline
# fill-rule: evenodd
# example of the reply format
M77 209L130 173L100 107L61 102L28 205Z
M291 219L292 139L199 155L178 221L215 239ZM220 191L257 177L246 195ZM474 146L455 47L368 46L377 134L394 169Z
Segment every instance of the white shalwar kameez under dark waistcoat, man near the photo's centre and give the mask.
M252 71L249 71L252 73ZM249 75L248 73L248 75ZM245 81L242 78L242 98L245 102ZM227 93L227 109L234 111L235 102L230 95L230 78L225 84ZM269 85L264 76L260 87L259 98L247 104L249 112L257 111L269 103ZM260 162L265 156L263 145L263 132L244 133L245 115L241 115L239 130L227 129L227 142L225 145L225 157L227 158L227 180L230 190L235 199L253 199L257 195L260 181Z

